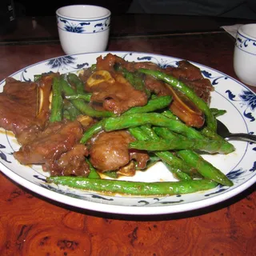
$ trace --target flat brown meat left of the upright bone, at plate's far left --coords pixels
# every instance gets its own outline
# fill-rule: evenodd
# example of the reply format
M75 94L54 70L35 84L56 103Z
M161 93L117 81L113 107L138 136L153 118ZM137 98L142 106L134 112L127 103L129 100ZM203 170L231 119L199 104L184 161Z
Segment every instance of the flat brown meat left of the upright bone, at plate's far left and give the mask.
M0 126L14 134L30 126L37 114L38 86L6 78L0 94Z

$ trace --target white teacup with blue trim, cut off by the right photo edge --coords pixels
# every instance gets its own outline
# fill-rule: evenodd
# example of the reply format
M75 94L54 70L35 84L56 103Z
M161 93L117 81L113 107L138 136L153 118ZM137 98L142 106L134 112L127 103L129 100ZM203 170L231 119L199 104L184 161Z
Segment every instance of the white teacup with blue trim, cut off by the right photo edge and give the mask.
M234 72L249 86L256 86L256 24L242 25L234 46Z

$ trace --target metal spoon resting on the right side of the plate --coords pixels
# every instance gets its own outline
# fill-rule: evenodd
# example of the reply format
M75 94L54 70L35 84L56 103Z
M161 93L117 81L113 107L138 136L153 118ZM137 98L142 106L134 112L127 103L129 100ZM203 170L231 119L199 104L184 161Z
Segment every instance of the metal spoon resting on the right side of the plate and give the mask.
M256 143L256 135L252 134L244 134L244 133L237 133L232 134L230 133L230 130L217 119L217 134L222 136L222 138L226 139L234 139L239 141L246 141L246 142L254 142Z

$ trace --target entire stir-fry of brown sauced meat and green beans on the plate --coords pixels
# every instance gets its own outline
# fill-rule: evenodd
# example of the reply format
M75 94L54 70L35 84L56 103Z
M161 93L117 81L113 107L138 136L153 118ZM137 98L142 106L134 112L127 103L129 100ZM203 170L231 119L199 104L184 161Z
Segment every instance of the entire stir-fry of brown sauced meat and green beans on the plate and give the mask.
M79 73L6 78L0 126L21 145L14 158L42 165L47 182L123 194L182 194L232 182L200 152L229 154L210 109L214 90L186 60L162 68L99 56ZM178 182L124 182L162 161ZM104 178L108 177L108 178Z

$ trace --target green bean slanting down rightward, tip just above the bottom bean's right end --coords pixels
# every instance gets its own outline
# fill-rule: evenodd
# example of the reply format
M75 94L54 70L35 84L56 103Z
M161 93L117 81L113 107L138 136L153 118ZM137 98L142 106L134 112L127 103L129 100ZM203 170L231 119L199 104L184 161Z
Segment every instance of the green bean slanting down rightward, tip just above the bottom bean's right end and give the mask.
M195 167L203 177L214 180L222 185L233 186L233 182L225 174L215 168L210 162L204 160L199 154L193 151L187 152L187 150L178 151L177 154L188 165Z

